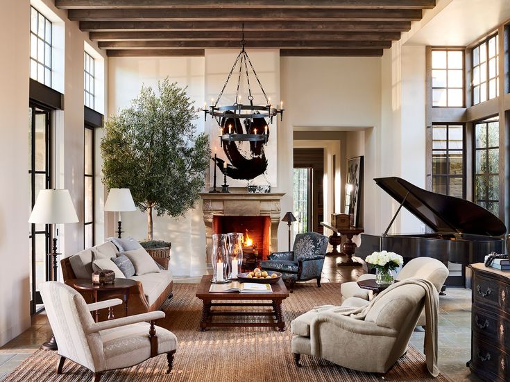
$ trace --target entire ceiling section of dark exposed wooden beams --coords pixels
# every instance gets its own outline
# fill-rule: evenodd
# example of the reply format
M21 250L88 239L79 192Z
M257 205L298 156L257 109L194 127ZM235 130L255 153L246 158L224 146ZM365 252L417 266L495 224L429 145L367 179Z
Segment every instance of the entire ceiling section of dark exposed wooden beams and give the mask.
M56 0L108 55L382 55L435 0Z

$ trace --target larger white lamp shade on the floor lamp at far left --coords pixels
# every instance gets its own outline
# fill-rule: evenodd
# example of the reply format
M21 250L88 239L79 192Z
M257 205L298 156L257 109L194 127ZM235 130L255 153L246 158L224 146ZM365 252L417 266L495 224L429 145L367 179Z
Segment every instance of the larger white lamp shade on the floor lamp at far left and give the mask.
M76 209L68 190L41 190L28 223L78 223Z

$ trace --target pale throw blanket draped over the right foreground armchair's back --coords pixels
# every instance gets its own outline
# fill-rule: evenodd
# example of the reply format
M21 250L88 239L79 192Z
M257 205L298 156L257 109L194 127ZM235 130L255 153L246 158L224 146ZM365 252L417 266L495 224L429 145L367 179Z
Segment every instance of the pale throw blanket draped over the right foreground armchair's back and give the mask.
M356 320L364 320L366 314L370 311L373 304L375 304L378 299L395 288L400 288L409 284L421 286L425 290L425 359L427 363L427 370L429 370L432 376L436 377L439 375L439 368L437 367L437 320L439 311L439 293L437 292L434 284L430 281L418 278L398 281L384 289L365 306L324 305L316 307L315 310L318 312L328 311L339 313L341 315L348 315Z

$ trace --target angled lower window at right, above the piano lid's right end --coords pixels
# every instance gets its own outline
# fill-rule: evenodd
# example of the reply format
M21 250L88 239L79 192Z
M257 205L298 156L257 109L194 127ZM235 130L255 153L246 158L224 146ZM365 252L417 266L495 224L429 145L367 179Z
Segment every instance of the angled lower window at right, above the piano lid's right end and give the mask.
M499 216L500 122L498 117L475 123L475 202Z

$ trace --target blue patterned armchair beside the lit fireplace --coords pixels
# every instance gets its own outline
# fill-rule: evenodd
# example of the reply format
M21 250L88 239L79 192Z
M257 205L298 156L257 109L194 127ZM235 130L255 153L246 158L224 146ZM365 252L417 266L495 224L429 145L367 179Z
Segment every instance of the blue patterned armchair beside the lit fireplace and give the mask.
M327 248L326 236L316 232L297 234L291 252L274 252L266 261L260 261L260 267L282 272L282 279L289 281L291 293L296 281L317 279L317 286L320 288Z

